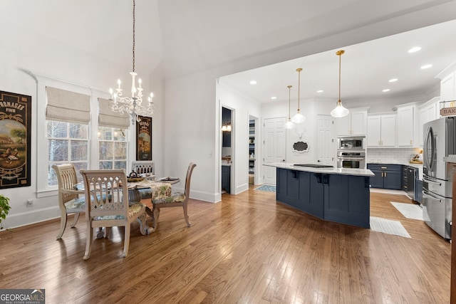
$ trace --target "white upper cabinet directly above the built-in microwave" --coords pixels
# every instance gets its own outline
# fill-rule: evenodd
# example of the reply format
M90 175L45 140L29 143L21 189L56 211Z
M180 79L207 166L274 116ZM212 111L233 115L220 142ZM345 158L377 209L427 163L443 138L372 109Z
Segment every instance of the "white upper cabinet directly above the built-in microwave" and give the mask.
M368 108L348 110L346 117L336 118L337 135L366 135Z

